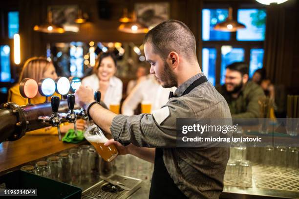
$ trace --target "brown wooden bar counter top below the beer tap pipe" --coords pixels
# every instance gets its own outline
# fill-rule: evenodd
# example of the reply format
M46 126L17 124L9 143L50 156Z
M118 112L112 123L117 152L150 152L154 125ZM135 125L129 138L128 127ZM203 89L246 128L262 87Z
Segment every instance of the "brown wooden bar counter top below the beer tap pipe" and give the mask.
M80 144L84 143L87 141ZM16 141L4 141L0 143L0 175L26 162L76 146L59 141L58 135L25 135Z

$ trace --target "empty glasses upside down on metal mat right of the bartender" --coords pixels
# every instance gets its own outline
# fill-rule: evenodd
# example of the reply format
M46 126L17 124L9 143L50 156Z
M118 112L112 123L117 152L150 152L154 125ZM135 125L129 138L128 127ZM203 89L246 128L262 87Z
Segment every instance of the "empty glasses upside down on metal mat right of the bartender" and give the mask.
M224 176L225 184L251 187L252 166L263 173L284 176L299 172L299 149L297 147L232 147ZM261 175L261 174L255 174Z

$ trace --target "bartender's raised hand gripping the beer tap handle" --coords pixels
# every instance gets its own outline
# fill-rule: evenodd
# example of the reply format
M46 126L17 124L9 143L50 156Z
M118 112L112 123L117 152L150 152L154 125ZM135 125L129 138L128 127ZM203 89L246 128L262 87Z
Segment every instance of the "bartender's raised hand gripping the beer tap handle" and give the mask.
M88 104L94 101L93 90L89 86L81 85L75 92L76 103L84 109L87 108Z

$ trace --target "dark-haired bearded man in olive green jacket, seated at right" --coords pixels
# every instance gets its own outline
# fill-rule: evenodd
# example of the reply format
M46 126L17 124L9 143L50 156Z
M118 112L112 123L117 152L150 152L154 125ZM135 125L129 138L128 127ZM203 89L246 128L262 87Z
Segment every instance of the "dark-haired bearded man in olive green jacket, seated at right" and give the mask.
M258 100L264 96L259 85L248 81L248 65L235 62L226 67L225 84L216 87L227 101L232 118L258 118Z

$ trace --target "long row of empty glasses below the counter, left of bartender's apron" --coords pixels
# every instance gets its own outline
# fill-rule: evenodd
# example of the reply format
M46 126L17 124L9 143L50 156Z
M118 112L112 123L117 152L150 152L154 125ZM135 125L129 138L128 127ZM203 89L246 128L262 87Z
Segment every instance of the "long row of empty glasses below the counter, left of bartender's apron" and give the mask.
M107 162L101 159L92 145L81 145L24 165L21 170L73 185L94 182L101 175L108 177L112 174L142 179L150 184L153 164L132 155L121 155Z

